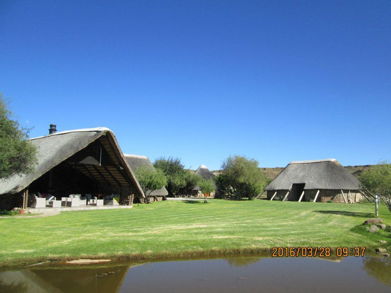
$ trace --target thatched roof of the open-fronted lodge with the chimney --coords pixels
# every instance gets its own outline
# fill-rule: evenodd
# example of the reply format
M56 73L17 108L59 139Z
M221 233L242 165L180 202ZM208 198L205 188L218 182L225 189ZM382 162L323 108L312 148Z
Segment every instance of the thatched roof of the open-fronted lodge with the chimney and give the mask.
M87 177L93 178L95 176L95 179L107 184L133 186L136 192L144 197L144 193L133 171L127 164L114 133L106 127L61 131L30 139L31 143L37 146L38 165L30 174L14 175L5 180L0 180L0 194L22 191L50 169L97 140L99 140L100 145L108 154L109 160L114 166L100 166L99 162L92 157L85 158L88 162L70 162L70 164Z

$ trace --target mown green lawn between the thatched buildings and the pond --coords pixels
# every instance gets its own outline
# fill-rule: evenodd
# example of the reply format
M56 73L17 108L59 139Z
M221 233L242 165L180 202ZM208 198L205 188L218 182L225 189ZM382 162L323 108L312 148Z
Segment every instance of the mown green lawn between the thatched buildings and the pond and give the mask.
M0 218L0 264L107 257L168 257L269 250L273 246L380 247L390 233L359 226L371 204L266 200L165 201L133 209ZM391 213L380 207L391 224Z

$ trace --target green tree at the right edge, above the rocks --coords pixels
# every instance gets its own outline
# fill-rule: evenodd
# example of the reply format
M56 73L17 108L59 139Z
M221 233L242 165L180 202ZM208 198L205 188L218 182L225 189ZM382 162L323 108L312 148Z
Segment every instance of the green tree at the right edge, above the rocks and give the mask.
M364 171L359 180L361 188L379 195L391 211L391 164L389 161L382 161L368 171Z

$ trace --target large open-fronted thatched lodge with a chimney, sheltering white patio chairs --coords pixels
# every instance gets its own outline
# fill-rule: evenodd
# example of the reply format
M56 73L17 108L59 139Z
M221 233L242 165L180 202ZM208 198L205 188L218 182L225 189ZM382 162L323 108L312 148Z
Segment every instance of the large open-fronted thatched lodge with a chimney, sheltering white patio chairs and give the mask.
M30 139L38 158L32 173L0 180L0 209L27 208L33 194L50 194L59 201L70 194L97 199L116 194L120 205L144 197L109 128L57 132L51 125L49 133Z

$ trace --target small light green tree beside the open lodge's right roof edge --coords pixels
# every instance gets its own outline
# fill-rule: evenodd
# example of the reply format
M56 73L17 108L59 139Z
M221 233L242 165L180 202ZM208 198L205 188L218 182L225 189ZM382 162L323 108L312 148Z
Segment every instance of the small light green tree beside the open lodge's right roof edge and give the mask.
M138 183L146 196L146 202L150 203L149 196L153 190L160 189L167 185L167 178L162 170L155 170L152 167L142 166L135 172Z

